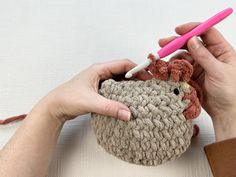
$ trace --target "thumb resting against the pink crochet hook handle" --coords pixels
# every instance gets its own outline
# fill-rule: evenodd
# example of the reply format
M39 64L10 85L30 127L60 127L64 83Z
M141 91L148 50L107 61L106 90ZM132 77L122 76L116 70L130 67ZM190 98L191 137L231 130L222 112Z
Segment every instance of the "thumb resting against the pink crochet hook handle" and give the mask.
M202 42L197 37L193 37L188 41L187 45L193 59L201 65L206 72L215 73L219 61L216 60Z

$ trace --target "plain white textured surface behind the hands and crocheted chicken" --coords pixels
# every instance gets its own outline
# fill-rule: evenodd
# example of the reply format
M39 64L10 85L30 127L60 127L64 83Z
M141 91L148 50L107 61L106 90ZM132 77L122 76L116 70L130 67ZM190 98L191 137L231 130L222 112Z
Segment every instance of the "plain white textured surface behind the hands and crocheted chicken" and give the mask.
M48 91L94 62L155 52L174 27L202 21L230 0L0 0L0 117L28 112ZM236 14L217 25L236 47ZM210 177L203 146L213 142L210 118L179 159L158 167L131 165L96 143L86 115L68 122L49 177ZM21 123L0 126L0 148Z

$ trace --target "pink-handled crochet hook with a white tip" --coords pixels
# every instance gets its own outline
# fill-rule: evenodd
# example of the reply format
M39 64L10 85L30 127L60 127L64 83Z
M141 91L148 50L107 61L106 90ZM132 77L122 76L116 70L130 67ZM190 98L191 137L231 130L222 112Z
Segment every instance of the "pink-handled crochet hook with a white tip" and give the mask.
M198 25L197 27L195 27L194 29L192 29L188 33L174 39L173 41L168 43L166 46L164 46L163 48L161 48L157 52L156 58L160 59L160 58L164 58L164 57L172 54L176 50L183 47L190 38L192 38L193 36L199 36L202 33L206 32L209 28L211 28L215 24L219 23L220 21L222 21L223 19L228 17L232 12L233 12L232 8L227 8L227 9L217 13L213 17L209 18L205 22L201 23L200 25ZM143 63L137 65L136 67L131 69L129 72L127 72L125 77L126 78L131 78L133 76L133 74L135 74L135 73L141 71L142 69L148 67L150 64L151 64L151 60L146 59Z

